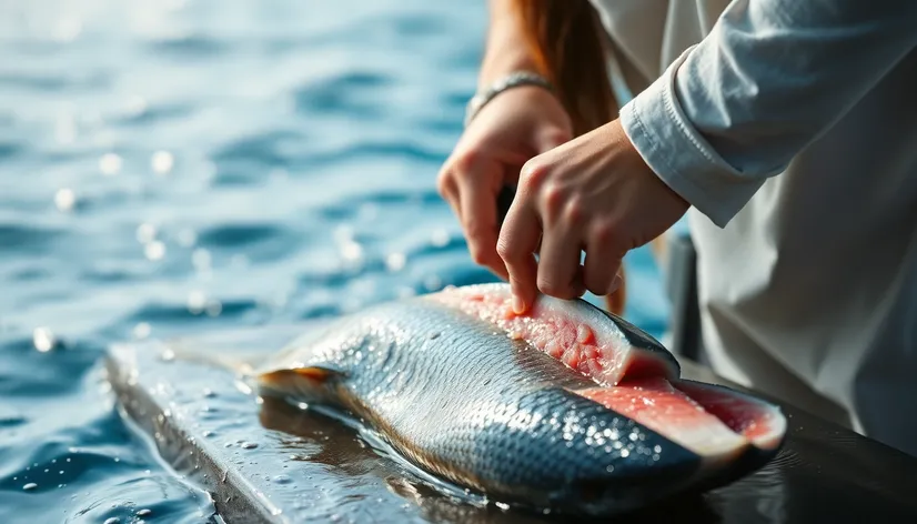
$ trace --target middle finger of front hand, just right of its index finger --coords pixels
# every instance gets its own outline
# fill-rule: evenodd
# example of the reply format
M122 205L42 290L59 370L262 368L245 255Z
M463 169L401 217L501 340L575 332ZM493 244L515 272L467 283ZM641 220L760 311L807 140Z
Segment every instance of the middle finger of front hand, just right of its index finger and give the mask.
M582 242L580 236L565 225L545 229L538 251L538 290L557 299L581 296L583 286L580 272Z

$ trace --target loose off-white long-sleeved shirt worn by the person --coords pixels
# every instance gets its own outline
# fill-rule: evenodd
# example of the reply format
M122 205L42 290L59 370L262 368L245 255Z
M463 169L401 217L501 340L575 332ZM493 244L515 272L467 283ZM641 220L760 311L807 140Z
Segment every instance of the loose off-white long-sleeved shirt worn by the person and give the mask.
M917 454L917 1L591 1L715 371Z

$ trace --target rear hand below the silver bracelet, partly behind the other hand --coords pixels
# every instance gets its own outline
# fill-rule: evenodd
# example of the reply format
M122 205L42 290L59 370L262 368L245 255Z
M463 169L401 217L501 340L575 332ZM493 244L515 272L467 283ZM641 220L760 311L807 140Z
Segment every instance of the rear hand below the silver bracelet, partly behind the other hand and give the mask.
M437 189L458 216L476 263L508 278L496 253L497 193L517 183L525 162L572 137L567 112L540 87L510 89L472 120L440 171Z

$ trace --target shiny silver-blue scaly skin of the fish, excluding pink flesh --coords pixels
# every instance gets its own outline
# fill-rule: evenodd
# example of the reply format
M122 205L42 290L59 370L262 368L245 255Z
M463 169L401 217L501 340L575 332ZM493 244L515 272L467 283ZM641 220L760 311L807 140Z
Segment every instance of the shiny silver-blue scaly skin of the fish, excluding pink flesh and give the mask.
M628 335L652 342L636 329ZM315 381L283 371L311 366L336 373ZM594 387L588 377L424 298L342 318L263 371L262 394L344 411L413 464L502 502L629 511L689 487L703 465L663 435L568 391Z

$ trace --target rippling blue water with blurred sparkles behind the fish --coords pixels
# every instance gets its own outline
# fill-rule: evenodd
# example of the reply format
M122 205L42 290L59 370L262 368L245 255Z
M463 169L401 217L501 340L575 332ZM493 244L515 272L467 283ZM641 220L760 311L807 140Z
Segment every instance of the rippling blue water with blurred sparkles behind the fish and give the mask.
M483 1L0 2L0 522L211 518L121 421L111 342L494 280L434 188L485 21ZM648 252L627 269L627 316L658 335Z

